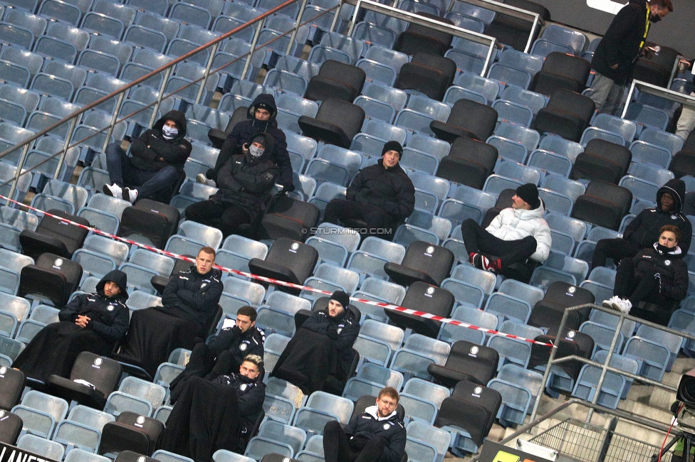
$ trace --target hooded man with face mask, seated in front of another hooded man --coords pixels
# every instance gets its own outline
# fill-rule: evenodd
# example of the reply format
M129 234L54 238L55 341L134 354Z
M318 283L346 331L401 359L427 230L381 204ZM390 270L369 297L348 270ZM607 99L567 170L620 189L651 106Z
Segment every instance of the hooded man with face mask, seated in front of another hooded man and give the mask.
M267 133L254 135L243 154L232 156L217 176L219 190L209 200L189 205L186 217L214 226L225 236L241 225L256 222L271 200L279 168L270 161L275 140Z

